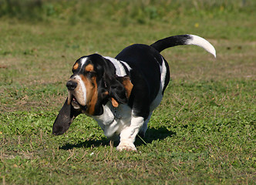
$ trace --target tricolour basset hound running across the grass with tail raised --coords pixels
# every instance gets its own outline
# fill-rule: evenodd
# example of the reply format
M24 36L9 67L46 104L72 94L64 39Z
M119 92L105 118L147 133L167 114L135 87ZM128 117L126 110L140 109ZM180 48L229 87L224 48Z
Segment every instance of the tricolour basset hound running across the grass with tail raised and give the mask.
M136 151L136 135L145 136L153 109L159 106L170 81L163 49L198 45L216 58L210 42L197 35L174 35L152 45L134 44L115 58L86 55L72 66L66 83L68 97L60 109L52 133L65 133L81 113L93 117L117 150Z

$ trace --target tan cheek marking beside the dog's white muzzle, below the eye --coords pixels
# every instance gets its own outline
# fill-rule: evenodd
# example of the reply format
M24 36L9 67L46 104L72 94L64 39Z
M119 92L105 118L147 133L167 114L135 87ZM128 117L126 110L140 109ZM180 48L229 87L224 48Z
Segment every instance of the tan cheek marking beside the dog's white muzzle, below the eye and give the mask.
M87 79L83 75L80 75L80 77L86 86L86 113L93 115L95 112L96 103L98 101L98 86L96 83L96 77L93 77L92 79Z

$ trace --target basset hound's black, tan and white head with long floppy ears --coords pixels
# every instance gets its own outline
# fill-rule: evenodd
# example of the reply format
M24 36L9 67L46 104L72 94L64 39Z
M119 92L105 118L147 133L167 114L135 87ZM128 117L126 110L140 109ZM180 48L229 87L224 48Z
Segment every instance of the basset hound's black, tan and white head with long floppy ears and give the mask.
M72 73L66 83L68 98L53 124L52 133L55 135L65 133L80 113L99 116L108 101L114 107L127 103L133 88L128 76L116 76L113 63L98 54L78 59Z

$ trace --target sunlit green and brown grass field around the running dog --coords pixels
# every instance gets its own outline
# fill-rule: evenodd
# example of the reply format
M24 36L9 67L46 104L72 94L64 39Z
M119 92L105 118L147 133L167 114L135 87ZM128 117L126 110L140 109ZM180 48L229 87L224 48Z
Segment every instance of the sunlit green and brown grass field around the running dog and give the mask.
M0 184L254 184L254 1L6 2ZM117 152L85 115L52 136L76 59L184 33L208 39L217 59L196 46L162 53L172 80L138 153Z

